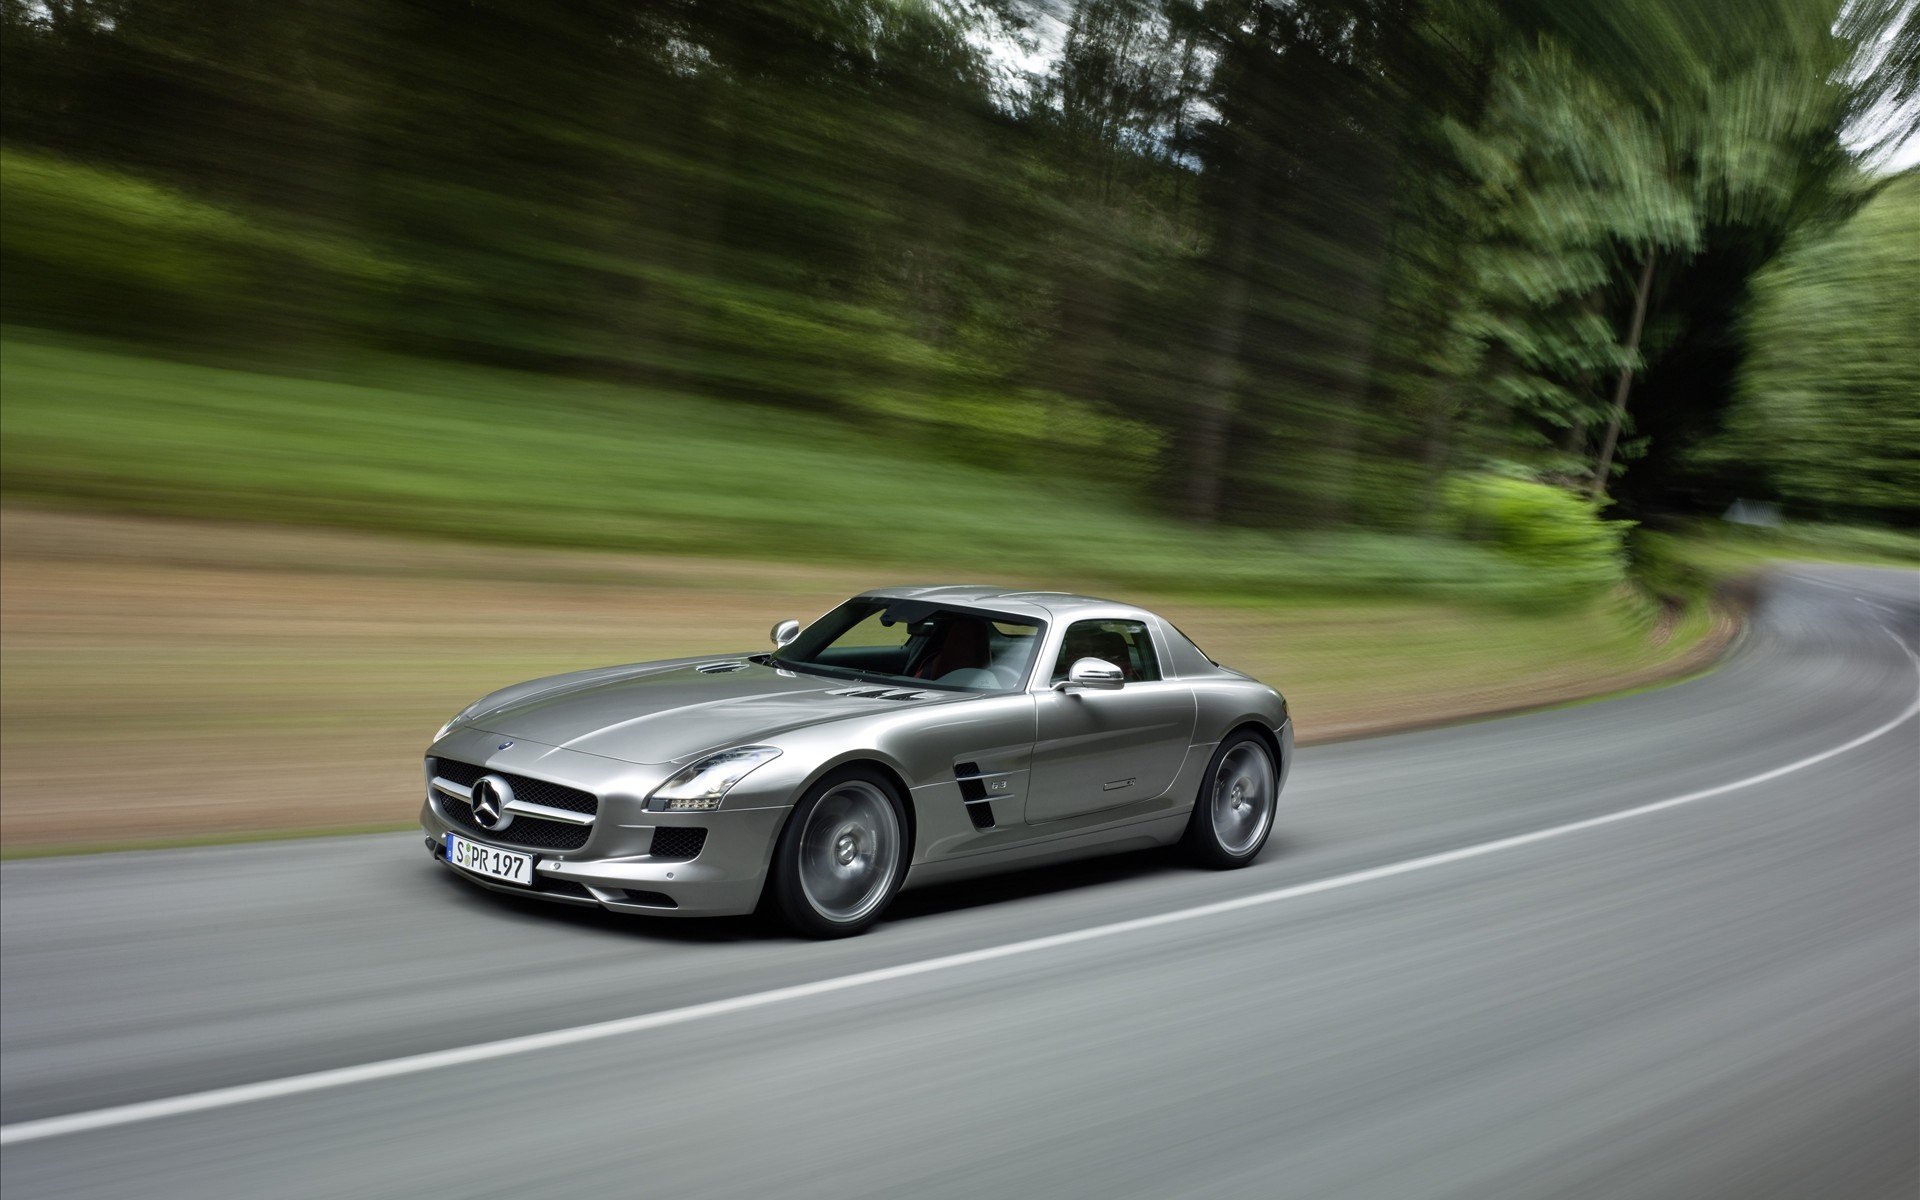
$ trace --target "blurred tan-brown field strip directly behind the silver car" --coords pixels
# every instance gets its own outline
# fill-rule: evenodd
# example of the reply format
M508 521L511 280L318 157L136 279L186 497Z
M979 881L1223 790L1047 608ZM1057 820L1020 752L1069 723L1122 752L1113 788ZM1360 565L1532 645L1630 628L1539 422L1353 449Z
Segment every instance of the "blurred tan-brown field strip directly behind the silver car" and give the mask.
M758 649L774 620L889 578L15 505L0 513L0 841L19 854L403 824L428 735L474 695ZM1632 687L1705 662L1728 634L1622 603L1129 597L1281 685L1304 739Z

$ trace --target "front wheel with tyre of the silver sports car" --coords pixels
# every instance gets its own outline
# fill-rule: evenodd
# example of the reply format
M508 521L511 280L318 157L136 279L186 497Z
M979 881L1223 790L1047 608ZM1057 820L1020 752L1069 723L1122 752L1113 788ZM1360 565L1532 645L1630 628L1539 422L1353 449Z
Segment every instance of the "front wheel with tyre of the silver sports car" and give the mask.
M864 766L828 774L793 806L768 872L768 902L795 933L852 937L879 920L906 877L906 806Z

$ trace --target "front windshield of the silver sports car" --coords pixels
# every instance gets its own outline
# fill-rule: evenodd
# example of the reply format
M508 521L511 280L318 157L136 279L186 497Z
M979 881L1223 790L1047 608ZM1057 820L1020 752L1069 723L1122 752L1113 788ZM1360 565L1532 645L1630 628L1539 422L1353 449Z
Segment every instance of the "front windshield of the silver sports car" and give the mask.
M774 662L881 684L1012 691L1025 685L1044 628L985 609L862 597L806 626Z

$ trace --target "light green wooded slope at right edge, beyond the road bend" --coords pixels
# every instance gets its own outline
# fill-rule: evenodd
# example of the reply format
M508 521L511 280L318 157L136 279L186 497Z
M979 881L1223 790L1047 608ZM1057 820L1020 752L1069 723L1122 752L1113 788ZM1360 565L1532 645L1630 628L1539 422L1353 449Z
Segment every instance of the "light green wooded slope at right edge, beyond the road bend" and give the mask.
M1701 459L1824 516L1920 524L1920 173L1761 275L1724 438Z

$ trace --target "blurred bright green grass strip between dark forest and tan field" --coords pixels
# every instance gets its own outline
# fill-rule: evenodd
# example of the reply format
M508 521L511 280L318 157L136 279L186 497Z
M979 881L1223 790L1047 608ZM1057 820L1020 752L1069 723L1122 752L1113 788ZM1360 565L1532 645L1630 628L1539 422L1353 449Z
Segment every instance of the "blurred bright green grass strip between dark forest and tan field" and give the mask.
M1569 593L1461 541L1194 530L1092 457L996 470L912 424L636 386L419 361L286 374L27 330L0 342L0 386L4 486L35 501L1213 599Z

